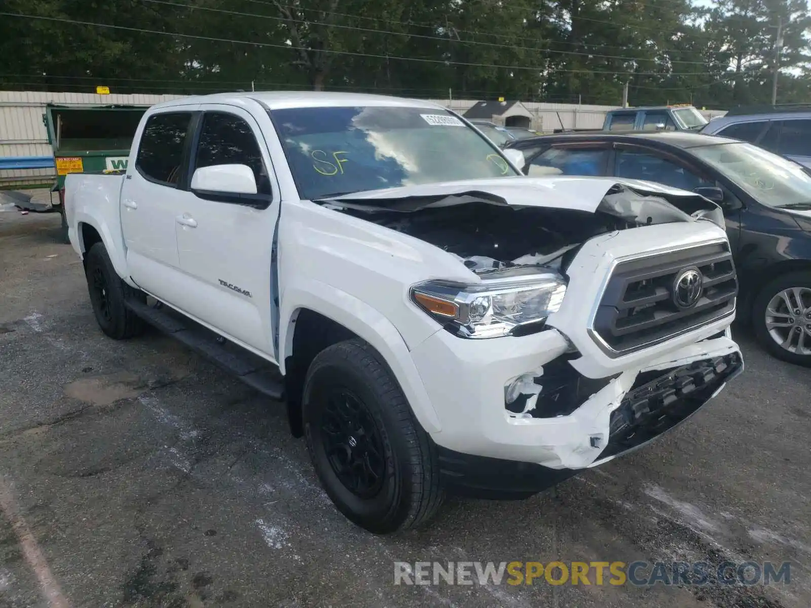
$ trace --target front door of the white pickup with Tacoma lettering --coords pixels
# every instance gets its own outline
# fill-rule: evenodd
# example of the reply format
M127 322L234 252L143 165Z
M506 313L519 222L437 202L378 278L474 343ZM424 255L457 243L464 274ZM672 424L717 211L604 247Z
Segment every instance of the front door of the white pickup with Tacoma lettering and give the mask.
M206 105L192 170L242 164L254 170L257 191L272 200L266 209L202 199L183 192L173 218L180 267L190 280L181 307L225 335L274 358L272 243L279 198L268 172L268 148L260 125L245 110ZM272 128L269 124L266 128Z

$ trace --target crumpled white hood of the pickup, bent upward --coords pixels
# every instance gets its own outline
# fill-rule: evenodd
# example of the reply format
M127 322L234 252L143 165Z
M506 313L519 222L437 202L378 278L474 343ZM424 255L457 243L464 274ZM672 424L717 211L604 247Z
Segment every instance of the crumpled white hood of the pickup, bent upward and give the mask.
M491 202L507 204L512 207L542 207L573 209L582 212L596 212L606 195L624 186L638 195L659 196L666 199L677 209L687 213L703 209L707 212L718 209L718 206L694 192L688 192L663 186L654 182L642 182L634 179L597 178L597 177L543 177L529 178L524 176L470 179L456 182L437 182L418 186L400 186L384 190L354 192L334 199L340 202L383 201L397 199L436 199L430 206L445 206L467 203L487 195ZM444 199L444 197L450 197ZM456 198L454 198L456 197ZM340 204L340 203L339 203ZM383 207L384 205L381 205ZM688 211L689 209L689 211ZM411 209L401 208L401 211ZM681 218L685 219L685 218Z

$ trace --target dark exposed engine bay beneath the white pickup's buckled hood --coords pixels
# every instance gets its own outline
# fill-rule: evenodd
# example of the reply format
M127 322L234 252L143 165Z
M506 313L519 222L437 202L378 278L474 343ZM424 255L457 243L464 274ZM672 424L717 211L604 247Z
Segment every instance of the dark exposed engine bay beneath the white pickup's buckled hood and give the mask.
M397 199L341 198L330 206L419 238L456 255L479 275L519 266L564 273L582 243L599 234L714 212L700 196L648 195L627 186L608 191L595 212L513 206L487 192ZM709 204L708 204L709 203Z

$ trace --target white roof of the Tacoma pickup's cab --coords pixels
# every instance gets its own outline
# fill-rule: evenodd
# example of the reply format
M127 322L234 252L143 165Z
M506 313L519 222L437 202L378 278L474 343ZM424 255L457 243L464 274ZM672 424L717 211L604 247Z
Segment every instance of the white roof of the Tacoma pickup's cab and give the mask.
M172 101L163 101L155 109L177 107L178 105L226 104L246 105L258 101L268 109L282 108L318 108L318 107L351 107L355 105L377 105L401 108L445 109L441 105L420 99L406 99L388 95L371 95L367 93L339 93L325 91L268 91L268 92L234 92L215 93L213 95L195 95L180 97Z

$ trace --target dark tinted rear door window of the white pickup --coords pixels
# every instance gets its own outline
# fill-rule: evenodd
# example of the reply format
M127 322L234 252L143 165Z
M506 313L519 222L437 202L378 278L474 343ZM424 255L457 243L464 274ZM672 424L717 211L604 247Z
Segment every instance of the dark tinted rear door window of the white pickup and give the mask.
M149 117L135 158L138 173L150 182L176 188L190 123L190 112L167 112Z

